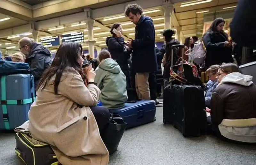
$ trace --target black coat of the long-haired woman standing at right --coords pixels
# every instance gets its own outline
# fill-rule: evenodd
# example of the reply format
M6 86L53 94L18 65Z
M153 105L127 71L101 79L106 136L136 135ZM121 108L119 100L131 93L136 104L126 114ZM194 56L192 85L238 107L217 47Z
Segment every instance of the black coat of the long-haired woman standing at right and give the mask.
M203 41L206 47L206 69L211 65L234 62L232 47L225 47L224 44L225 41L228 41L228 34L225 32L206 32Z

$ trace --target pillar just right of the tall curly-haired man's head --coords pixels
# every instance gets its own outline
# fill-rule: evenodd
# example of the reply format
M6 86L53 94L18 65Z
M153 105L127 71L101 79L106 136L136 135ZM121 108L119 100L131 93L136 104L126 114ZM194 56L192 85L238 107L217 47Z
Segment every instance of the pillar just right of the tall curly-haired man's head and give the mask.
M167 3L164 3L163 6L164 11L164 30L171 29L172 28L172 10L174 9L174 4L170 3L169 1Z

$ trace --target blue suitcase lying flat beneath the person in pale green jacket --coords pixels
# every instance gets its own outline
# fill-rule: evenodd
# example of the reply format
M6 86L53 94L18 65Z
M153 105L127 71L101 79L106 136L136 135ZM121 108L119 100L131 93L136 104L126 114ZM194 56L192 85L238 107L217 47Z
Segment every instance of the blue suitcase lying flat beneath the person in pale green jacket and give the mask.
M147 124L156 120L156 105L152 100L140 100L133 103L125 103L122 109L111 109L110 113L123 117L128 128Z

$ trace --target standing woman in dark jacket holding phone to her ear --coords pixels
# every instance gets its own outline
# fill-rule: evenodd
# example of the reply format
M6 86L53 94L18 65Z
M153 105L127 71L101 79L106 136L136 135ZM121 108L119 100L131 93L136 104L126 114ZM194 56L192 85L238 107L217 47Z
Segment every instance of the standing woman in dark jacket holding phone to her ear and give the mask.
M131 88L128 60L131 57L132 50L125 46L123 28L120 23L113 24L110 33L112 37L106 39L108 51L126 76L126 88Z

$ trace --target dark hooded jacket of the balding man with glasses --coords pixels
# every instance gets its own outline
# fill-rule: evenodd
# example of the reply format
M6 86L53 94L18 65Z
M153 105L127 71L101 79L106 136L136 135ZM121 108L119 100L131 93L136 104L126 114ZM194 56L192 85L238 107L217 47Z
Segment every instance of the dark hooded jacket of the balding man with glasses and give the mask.
M43 76L43 72L52 64L51 52L43 45L34 43L25 62L30 66L36 88Z

